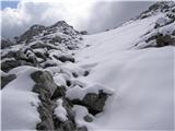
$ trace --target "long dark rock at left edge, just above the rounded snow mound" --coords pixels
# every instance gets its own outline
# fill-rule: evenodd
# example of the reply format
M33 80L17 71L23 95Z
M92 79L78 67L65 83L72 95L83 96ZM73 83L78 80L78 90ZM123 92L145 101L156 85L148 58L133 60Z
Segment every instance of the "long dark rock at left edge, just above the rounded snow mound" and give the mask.
M4 72L9 72L11 69L20 66L33 66L33 64L24 60L7 60L1 63L1 70Z

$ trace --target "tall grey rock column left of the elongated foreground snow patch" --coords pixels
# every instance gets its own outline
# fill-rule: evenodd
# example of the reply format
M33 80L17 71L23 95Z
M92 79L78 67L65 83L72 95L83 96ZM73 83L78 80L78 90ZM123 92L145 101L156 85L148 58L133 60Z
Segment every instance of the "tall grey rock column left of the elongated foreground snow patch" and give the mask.
M55 104L50 100L57 85L54 83L52 76L47 71L36 71L31 74L31 78L36 82L33 92L38 94L40 99L39 107L37 108L42 122L37 123L37 130L55 130L52 111Z

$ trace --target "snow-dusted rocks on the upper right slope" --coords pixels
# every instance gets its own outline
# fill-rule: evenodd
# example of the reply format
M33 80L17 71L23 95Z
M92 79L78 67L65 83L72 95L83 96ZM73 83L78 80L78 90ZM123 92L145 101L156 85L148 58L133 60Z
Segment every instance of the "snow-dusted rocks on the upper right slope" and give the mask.
M175 46L175 2L158 2L142 13L162 13L154 24L154 27L145 33L136 44L138 48Z

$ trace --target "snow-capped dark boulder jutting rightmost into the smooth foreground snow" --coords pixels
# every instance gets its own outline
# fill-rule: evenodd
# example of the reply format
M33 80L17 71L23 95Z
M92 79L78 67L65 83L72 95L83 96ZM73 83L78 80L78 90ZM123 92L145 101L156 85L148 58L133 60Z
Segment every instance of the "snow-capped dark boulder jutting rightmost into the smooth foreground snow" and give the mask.
M112 94L112 91L94 84L85 88L75 86L67 92L67 97L72 104L85 106L90 114L96 115L103 111L105 102Z

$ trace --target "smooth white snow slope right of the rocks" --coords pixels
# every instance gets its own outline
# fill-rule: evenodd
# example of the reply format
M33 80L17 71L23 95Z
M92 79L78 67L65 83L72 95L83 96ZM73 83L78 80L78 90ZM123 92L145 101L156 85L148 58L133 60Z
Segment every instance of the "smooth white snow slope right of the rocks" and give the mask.
M89 46L75 55L77 64L91 70L83 81L115 91L90 131L173 129L174 47L132 48L160 15L84 37Z

